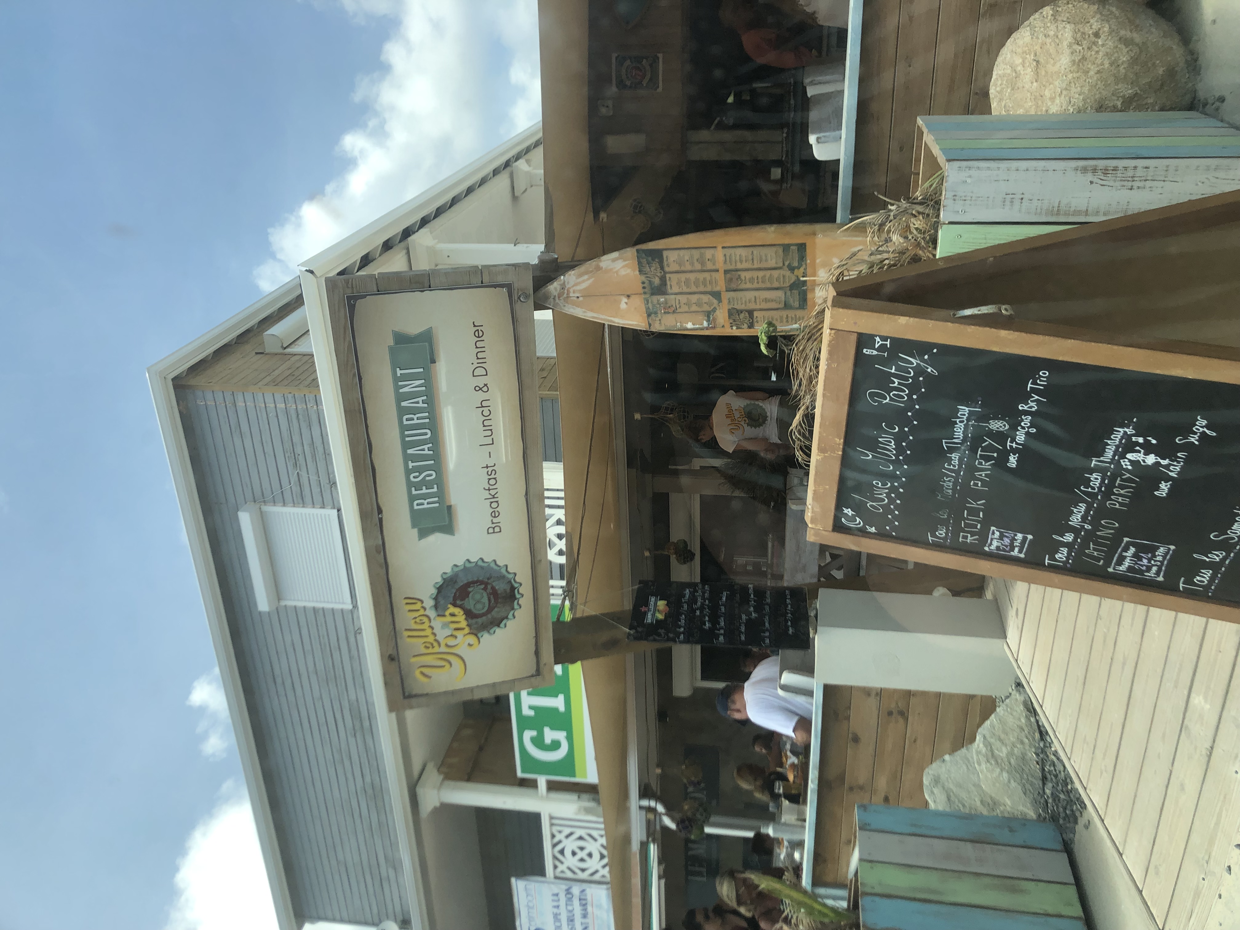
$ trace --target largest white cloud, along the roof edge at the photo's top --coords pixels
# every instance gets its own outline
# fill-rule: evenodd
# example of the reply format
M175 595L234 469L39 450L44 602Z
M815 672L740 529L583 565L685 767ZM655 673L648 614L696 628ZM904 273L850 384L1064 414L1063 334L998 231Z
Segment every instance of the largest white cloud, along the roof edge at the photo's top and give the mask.
M264 291L301 262L537 122L537 0L340 0L394 20L384 71L358 82L366 122L339 149L351 162L268 231Z

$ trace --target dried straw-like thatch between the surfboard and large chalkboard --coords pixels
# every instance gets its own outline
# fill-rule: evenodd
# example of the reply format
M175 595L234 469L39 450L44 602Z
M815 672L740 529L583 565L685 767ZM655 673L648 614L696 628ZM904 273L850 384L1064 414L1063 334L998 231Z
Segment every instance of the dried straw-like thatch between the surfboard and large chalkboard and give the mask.
M887 200L887 197L883 197ZM832 265L827 284L815 294L813 311L801 324L792 342L791 370L796 417L789 429L789 441L802 465L810 464L813 446L813 414L818 399L818 365L822 357L822 335L827 312L827 285L862 274L903 268L934 258L939 247L939 216L942 212L942 172L940 171L913 196L887 201L877 213L858 217L844 229L866 227L866 248L853 249Z

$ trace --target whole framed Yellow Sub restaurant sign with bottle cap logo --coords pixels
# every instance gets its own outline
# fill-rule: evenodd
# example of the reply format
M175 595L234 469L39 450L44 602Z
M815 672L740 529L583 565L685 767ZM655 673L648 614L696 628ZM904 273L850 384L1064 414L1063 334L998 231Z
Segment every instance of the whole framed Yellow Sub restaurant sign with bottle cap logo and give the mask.
M345 289L326 284L389 706L546 683L536 350L513 300L523 285L336 296Z

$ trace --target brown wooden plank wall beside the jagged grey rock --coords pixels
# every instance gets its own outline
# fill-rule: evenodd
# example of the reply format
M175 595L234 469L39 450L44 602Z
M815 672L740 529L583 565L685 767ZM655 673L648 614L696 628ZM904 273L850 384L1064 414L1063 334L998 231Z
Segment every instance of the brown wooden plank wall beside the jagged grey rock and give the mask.
M848 877L858 804L925 807L926 766L973 742L994 698L935 691L823 689L813 884Z

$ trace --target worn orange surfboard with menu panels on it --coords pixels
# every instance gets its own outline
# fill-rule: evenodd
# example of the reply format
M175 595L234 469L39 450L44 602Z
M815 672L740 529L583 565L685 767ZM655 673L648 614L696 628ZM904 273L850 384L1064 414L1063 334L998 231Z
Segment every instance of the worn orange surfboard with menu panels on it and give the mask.
M754 335L795 331L831 267L866 244L835 223L750 226L677 236L613 252L548 284L537 301L637 330Z

